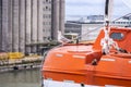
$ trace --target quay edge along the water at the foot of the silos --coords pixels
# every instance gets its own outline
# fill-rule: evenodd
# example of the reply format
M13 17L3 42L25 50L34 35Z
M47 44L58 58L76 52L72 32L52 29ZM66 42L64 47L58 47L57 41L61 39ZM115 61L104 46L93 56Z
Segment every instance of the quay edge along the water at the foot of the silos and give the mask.
M40 67L43 57L24 57L22 59L0 60L0 73L16 70Z

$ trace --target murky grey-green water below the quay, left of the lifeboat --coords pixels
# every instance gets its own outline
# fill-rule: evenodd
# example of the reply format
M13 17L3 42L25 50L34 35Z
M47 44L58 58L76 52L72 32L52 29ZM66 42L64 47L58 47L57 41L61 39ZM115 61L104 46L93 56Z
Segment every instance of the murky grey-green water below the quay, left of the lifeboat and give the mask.
M0 87L40 87L39 69L0 73Z

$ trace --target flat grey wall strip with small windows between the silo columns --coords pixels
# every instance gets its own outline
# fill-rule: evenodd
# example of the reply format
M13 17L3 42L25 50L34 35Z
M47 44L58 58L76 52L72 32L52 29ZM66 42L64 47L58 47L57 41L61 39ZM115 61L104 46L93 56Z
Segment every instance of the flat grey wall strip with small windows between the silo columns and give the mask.
M52 5L51 0L44 0L43 3L43 39L49 41L51 39L51 13L52 13ZM53 13L52 13L53 15Z

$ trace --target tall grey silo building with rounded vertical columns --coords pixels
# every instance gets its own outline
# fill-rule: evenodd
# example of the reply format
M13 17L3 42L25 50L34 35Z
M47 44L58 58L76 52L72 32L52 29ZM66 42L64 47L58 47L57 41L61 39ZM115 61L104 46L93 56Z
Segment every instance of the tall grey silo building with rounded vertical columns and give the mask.
M36 52L64 30L64 0L0 0L0 50Z

